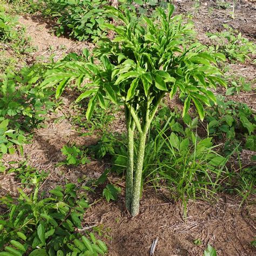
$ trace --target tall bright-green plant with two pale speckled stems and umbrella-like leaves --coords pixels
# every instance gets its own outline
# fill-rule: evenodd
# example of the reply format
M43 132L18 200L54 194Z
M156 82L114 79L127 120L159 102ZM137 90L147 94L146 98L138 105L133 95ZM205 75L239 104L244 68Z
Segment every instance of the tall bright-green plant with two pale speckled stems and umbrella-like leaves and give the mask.
M77 85L85 79L91 82L77 101L90 97L86 117L90 119L98 103L105 108L106 100L124 105L128 155L126 170L126 208L132 216L139 213L142 169L147 133L161 100L179 92L184 101L183 116L193 102L204 119L203 105L216 103L209 88L225 85L216 59L225 59L220 53L207 53L206 46L188 41L194 31L192 24L184 24L180 15L172 17L174 6L169 4L167 14L157 8L157 21L143 17L143 22L125 15L112 7L107 11L119 24L104 24L116 33L110 41L102 39L94 56L102 65L95 64L89 52L84 51L84 61L63 61L46 73L42 86L57 85L56 97L64 87L75 80ZM138 149L134 151L134 134L138 135ZM136 152L136 154L134 153Z

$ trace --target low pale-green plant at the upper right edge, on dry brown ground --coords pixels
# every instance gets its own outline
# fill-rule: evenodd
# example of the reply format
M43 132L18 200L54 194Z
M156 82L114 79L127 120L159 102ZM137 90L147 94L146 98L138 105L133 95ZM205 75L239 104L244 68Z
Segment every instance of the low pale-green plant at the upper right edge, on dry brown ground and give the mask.
M245 62L250 60L249 55L255 54L255 44L247 38L242 37L241 33L232 29L230 26L223 25L226 31L217 33L207 33L207 36L213 40L215 47L210 46L213 52L224 53L230 60Z

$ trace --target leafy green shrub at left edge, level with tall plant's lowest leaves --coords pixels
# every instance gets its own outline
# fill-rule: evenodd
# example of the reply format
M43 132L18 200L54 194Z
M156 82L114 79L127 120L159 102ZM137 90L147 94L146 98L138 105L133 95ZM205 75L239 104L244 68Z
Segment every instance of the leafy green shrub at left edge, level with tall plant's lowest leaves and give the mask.
M52 109L52 92L36 85L42 76L41 69L40 65L23 68L19 76L9 72L0 83L0 116L8 118L12 126L29 131Z

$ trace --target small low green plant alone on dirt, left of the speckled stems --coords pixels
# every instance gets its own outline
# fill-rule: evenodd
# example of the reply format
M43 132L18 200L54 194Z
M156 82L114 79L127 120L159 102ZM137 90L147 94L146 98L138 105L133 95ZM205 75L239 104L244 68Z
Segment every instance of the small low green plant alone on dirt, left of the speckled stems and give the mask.
M90 160L86 156L86 152L84 150L78 149L77 146L63 146L61 149L64 156L66 156L66 161L60 164L67 165L79 165L79 164L87 164L90 163Z

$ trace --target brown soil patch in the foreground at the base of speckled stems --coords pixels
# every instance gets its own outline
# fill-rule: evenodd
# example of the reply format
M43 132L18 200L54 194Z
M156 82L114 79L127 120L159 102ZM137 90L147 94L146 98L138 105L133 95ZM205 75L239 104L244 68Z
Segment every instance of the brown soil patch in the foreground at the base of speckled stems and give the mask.
M149 255L154 239L154 255L203 255L208 244L218 255L255 255L250 246L255 234L256 207L239 208L239 201L227 196L215 204L190 201L186 219L180 203L166 203L154 191L144 191L140 214L131 219L124 211L124 199L101 202L87 211L86 224L103 223L109 255ZM200 239L201 245L194 241Z

